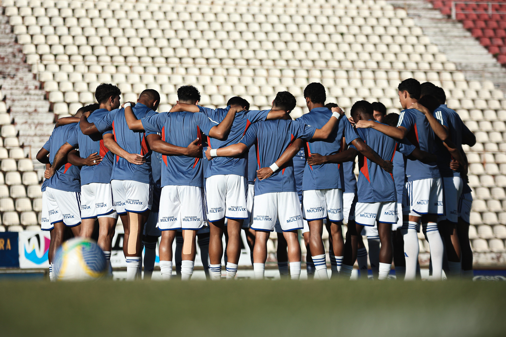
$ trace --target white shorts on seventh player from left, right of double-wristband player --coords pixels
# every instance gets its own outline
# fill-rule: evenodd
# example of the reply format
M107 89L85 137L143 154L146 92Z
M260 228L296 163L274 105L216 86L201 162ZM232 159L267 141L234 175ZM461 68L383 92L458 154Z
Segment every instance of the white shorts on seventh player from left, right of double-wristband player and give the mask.
M343 221L343 190L341 188L302 191L302 214L308 221L329 218Z

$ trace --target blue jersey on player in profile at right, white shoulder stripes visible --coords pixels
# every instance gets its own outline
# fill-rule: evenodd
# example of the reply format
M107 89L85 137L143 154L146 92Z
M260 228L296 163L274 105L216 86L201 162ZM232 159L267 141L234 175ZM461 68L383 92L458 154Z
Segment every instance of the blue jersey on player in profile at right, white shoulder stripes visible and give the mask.
M431 154L436 152L434 132L423 113L416 109L402 110L397 123L399 126L407 129L406 138L416 148ZM406 175L408 181L441 177L436 163L424 164L419 160L407 161Z

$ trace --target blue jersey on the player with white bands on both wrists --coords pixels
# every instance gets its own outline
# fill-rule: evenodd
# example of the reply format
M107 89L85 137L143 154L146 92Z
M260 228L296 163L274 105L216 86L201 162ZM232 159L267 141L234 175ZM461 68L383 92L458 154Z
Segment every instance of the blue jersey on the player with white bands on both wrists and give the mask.
M278 160L283 152L297 138L309 140L316 128L292 120L270 120L251 124L241 143L248 148L257 147L258 167L269 167ZM293 160L286 167L274 172L267 179L255 181L255 195L271 192L296 192L297 187L293 176Z

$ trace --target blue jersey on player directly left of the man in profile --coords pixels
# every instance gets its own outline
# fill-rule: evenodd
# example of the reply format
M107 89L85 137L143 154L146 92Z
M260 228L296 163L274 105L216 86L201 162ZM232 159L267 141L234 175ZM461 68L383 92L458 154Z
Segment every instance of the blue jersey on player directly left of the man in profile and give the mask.
M393 161L396 150L406 156L414 150L414 146L398 143L373 128L357 129L357 132L383 160ZM371 162L362 154L359 155L358 165L357 196L359 203L397 201L394 177L391 173Z

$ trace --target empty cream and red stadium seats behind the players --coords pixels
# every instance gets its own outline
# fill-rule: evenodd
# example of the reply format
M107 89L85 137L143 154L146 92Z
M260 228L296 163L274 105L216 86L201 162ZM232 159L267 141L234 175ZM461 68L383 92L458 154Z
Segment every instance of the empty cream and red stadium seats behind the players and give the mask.
M446 6L434 1L434 7L439 3ZM302 93L313 81L325 85L327 102L345 110L366 99L384 103L389 112L401 109L396 90L401 80L414 77L440 85L448 106L478 138L473 148L465 146L475 199L473 248L503 249L497 240L506 238L504 94L492 82L467 80L404 9L383 0L4 0L2 6L31 72L42 83L48 109L60 116L94 102L101 82L117 84L122 101L135 101L143 89L154 88L161 96L159 111L176 103L182 84L197 86L201 104L208 107L223 106L237 94L251 109L265 108L277 91L289 90L297 98L294 118L307 111ZM490 39L500 54L503 19L471 18L465 28L479 29L482 36L475 31L476 36ZM39 120L31 122L6 102L0 102L5 183L0 198L12 200L5 201L5 211L0 202L0 212L7 228L18 228L33 220L33 214L22 212L40 212L40 189L30 173L33 166L20 158L20 139L29 139L38 150L52 119L38 108ZM425 238L420 239L420 249L428 252Z

